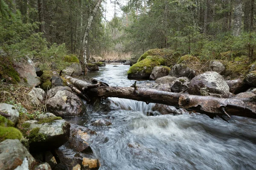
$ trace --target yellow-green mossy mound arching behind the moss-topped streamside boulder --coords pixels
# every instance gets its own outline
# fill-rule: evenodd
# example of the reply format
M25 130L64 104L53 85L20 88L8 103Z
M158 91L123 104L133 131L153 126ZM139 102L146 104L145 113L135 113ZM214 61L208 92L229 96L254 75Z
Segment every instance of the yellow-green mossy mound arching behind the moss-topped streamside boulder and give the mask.
M175 53L173 50L163 48L163 49L150 49L146 51L143 55L140 56L137 63L142 61L143 59L148 58L148 56L158 56L165 60L163 65L166 66L172 66L175 65L175 63L178 61L178 58L180 57L180 53Z

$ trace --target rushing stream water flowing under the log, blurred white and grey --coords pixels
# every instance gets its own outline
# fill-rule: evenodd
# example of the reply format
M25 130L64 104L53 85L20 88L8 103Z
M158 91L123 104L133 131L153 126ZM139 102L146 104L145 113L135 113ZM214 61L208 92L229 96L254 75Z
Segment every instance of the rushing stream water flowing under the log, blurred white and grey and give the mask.
M111 86L131 86L128 65L109 64L90 77ZM138 82L140 83L140 82ZM97 132L88 141L100 170L255 170L256 120L233 116L229 121L203 114L146 116L154 104L111 98L108 113L88 111L69 119ZM90 110L90 109L89 109ZM107 119L113 125L90 125Z

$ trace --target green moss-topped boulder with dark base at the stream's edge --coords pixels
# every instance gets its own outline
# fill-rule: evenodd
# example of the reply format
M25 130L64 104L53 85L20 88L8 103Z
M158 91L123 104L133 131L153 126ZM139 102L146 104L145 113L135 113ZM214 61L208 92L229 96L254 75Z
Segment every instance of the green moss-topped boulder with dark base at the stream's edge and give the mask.
M132 65L128 70L128 79L148 79L155 66L163 65L165 60L159 56L148 56Z

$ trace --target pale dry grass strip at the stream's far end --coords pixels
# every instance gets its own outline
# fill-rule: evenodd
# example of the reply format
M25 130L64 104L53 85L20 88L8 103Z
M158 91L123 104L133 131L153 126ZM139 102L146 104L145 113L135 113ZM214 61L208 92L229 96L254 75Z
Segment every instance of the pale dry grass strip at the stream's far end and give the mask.
M119 60L119 59L131 59L131 53L118 53L115 51L109 53L103 53L103 57L100 56L92 56L96 61L99 60Z

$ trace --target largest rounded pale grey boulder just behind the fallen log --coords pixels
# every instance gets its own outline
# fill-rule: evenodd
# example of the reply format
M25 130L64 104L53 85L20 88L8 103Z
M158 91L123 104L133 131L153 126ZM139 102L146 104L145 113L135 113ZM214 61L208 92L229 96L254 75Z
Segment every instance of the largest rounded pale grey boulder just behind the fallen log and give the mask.
M189 82L189 94L228 98L230 88L223 77L215 71L207 71Z

